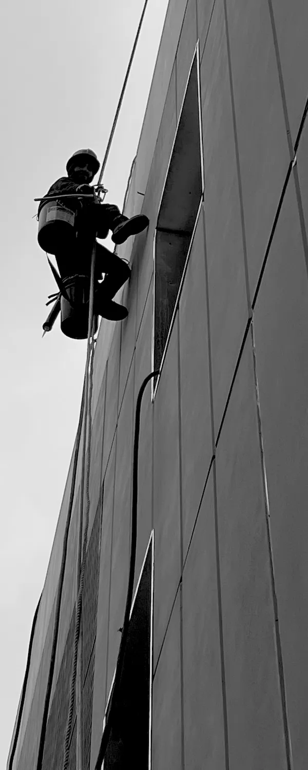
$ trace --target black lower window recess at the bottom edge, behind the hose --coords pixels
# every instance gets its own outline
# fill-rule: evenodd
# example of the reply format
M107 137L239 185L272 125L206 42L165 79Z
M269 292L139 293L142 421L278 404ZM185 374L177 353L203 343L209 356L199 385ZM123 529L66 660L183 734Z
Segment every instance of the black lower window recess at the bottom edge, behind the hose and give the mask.
M102 770L151 768L153 537L152 532L132 602L119 696Z

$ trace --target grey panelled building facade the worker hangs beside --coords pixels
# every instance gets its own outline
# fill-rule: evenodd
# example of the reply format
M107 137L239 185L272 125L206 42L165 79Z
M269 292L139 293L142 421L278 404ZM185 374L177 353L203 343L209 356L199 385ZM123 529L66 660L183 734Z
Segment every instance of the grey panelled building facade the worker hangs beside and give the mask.
M126 214L146 213L149 229L118 249L132 265L129 316L102 321L95 349L83 610L91 770L126 600L136 396L156 354L161 375L142 406L136 564L136 602L142 585L146 602L153 596L149 764L307 765L308 122L296 145L307 25L302 0L169 3L126 196ZM72 465L14 770L37 760L71 474ZM78 474L43 763L52 756L59 770L80 464ZM75 732L71 767L74 742Z

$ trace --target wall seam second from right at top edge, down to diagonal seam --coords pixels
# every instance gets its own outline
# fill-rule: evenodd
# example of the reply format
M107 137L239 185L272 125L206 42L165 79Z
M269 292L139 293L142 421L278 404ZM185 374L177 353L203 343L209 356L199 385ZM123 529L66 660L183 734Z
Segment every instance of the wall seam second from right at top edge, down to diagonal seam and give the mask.
M241 177L240 162L239 162L239 140L237 136L237 127L236 127L236 106L235 106L234 89L233 89L231 49L230 49L230 40L229 40L229 25L228 25L228 16L227 16L227 10L226 10L226 0L223 0L223 6L224 6L224 12L225 12L226 50L227 50L227 57L228 57L229 86L230 86L231 109L232 109L232 119L233 119L234 146L236 150L236 174L237 174L237 184L239 189L239 213L240 213L240 220L241 220L241 227L242 227L243 259L244 259L245 280L246 280L247 305L248 305L248 313L250 318L252 316L253 311L251 307L251 297L250 297L250 287L249 287L243 187L242 187L242 177Z

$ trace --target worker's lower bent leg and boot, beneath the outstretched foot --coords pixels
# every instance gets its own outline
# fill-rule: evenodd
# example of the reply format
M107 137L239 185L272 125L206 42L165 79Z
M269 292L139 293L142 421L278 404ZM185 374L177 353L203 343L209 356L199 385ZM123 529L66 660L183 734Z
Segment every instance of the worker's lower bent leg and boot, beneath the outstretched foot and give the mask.
M112 297L129 279L130 269L119 256L105 249L101 243L96 244L95 276L105 273L105 278L95 289L95 313L110 320L126 318L128 311L123 305L112 302Z

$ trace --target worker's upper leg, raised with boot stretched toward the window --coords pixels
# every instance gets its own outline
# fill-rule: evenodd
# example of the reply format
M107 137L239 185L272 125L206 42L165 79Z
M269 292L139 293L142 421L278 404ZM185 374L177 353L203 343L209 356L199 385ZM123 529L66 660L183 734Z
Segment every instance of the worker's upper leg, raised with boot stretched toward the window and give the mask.
M113 243L124 243L129 236L141 233L149 225L149 219L145 214L138 214L129 219L121 214L118 206L112 203L102 203L95 206L97 209L97 236L105 238L108 230L112 230ZM107 233L105 234L107 229ZM102 234L101 234L102 233Z

